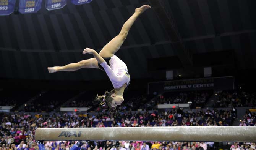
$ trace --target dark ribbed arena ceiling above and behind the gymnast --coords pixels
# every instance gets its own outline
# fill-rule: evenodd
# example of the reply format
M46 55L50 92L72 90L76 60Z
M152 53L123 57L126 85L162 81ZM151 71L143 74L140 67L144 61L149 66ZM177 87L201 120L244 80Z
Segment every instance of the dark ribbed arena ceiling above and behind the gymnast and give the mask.
M93 0L77 6L68 2L55 11L42 7L33 14L0 16L0 77L107 79L102 76L104 72L96 69L49 74L47 67L91 58L92 55L82 55L84 48L99 52L119 33L134 9L149 1L154 0ZM175 22L190 54L233 49L239 69L256 68L255 0L155 1L166 4L165 13ZM179 54L159 15L162 14L157 8L141 15L117 52L133 78L150 77L147 59Z

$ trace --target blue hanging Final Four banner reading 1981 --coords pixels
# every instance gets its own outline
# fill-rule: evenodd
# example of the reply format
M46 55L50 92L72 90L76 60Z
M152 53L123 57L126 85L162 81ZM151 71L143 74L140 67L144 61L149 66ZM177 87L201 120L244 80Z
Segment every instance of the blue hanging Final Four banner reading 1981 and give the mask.
M42 0L19 0L19 12L22 14L36 13L41 9Z

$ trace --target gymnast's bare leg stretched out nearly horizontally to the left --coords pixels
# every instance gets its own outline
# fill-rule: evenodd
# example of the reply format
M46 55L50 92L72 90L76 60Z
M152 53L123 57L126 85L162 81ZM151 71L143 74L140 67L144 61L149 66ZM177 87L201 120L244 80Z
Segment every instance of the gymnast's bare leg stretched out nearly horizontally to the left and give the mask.
M97 68L99 69L98 62L95 58L82 60L78 63L70 63L65 66L48 67L49 73L55 73L58 71L76 71L81 68Z

